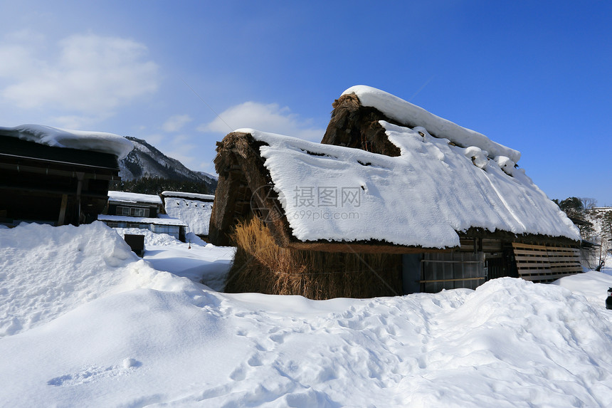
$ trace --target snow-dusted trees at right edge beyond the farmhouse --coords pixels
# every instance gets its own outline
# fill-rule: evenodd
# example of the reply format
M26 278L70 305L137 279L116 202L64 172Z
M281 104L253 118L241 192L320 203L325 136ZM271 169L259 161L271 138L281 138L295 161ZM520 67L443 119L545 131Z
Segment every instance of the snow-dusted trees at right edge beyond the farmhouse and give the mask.
M606 263L608 250L612 249L612 209L600 211L596 209L597 200L591 198L568 197L559 201L553 199L561 211L578 226L580 236L586 241L599 244L598 265L596 271L601 270ZM595 224L599 226L599 234L596 235Z

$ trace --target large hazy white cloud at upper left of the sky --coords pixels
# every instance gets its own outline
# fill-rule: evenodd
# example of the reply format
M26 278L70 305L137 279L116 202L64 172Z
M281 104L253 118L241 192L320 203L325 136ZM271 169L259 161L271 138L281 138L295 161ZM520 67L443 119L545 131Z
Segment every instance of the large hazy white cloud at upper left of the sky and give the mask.
M49 58L34 43L0 44L0 98L19 108L107 117L157 90L157 65L146 61L147 47L136 41L78 34L47 47L57 54Z

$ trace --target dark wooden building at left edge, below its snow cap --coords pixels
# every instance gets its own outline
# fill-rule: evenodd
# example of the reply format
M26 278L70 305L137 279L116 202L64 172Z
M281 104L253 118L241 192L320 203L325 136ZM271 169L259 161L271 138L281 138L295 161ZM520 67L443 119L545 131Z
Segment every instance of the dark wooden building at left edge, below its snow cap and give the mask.
M0 223L94 221L120 179L117 155L23 140L12 129L0 128Z

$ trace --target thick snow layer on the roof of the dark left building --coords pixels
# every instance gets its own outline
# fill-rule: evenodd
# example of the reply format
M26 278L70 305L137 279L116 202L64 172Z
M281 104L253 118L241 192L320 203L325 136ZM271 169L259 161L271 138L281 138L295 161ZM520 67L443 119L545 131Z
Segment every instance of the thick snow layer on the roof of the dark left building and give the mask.
M51 147L110 153L117 156L117 159L123 159L134 148L130 140L112 133L66 130L46 125L0 126L0 135L19 137L28 142Z

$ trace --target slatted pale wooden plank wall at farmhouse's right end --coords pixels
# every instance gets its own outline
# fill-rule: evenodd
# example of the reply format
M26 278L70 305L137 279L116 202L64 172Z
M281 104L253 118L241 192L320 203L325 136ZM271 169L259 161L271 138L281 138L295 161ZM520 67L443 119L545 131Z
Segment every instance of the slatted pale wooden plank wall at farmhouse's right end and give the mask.
M519 276L546 283L582 272L579 249L513 242Z

